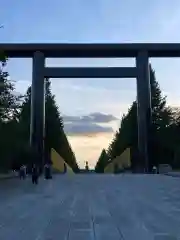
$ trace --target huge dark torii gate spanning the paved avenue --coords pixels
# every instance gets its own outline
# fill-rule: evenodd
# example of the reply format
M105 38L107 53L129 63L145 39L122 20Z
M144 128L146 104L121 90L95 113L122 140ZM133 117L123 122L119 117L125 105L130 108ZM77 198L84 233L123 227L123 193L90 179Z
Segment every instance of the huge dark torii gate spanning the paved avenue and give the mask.
M148 172L148 134L151 125L149 57L180 57L180 44L0 44L8 57L32 58L30 144L43 163L45 137L44 78L136 78L138 152ZM136 67L45 67L45 58L136 58Z

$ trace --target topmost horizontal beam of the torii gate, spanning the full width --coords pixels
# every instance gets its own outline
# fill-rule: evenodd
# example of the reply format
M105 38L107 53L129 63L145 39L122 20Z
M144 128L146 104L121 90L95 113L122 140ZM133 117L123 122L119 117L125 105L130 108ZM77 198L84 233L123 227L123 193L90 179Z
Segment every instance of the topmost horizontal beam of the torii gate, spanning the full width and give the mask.
M41 51L49 58L126 58L147 51L149 57L180 57L180 43L3 43L8 57L31 58Z

